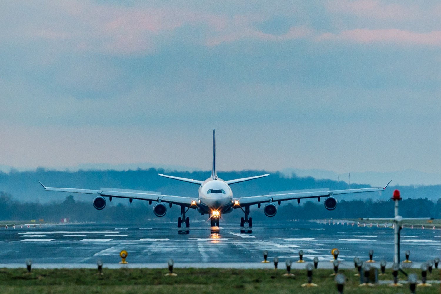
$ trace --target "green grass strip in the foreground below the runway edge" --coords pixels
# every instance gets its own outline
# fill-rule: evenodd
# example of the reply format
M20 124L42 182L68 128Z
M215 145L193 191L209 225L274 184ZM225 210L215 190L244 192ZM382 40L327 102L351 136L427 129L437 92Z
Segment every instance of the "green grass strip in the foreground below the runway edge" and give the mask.
M419 274L419 270L409 270ZM302 288L306 282L306 271L292 271L295 279L284 278L284 270L268 269L217 269L177 268L176 277L164 276L167 270L145 268L121 268L103 270L97 275L93 269L0 269L1 293L176 293L176 294L222 294L222 293L337 293L332 270L318 269L313 272L313 282L319 287ZM410 293L407 285L398 290L387 286L358 287L359 278L354 270L341 270L348 282L344 293L395 294ZM380 279L392 279L389 271ZM400 274L400 279L404 275ZM440 279L440 271L434 269L428 279ZM439 284L418 289L417 293L440 293Z

